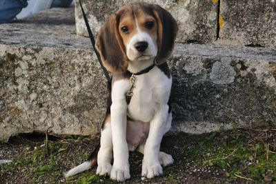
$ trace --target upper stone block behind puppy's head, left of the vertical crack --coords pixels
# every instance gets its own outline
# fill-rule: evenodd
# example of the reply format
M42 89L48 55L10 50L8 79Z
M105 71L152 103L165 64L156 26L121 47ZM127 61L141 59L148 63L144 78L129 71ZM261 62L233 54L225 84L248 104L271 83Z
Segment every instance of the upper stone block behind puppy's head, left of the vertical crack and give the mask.
M97 34L101 25L111 13L119 10L126 3L134 1L82 1L92 32ZM217 0L146 0L146 2L159 4L175 17L179 25L177 41L184 43L210 43L215 41L217 36ZM87 37L88 33L79 1L75 1L75 7L77 34Z

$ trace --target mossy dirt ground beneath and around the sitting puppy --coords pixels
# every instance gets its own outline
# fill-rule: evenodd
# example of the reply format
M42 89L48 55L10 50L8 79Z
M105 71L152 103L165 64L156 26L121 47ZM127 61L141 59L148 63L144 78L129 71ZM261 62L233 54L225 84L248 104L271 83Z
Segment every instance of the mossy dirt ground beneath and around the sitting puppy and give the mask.
M0 144L0 183L114 183L92 170L64 178L62 173L86 161L99 137L15 136ZM276 183L276 129L243 129L210 134L165 136L161 151L175 163L157 178L141 177L143 156L130 153L125 183Z

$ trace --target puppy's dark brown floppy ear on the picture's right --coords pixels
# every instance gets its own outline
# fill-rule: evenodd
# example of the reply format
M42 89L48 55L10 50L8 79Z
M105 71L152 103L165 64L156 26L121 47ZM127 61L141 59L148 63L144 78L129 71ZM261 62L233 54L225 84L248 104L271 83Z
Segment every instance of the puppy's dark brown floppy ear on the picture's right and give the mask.
M172 54L177 37L178 25L172 15L158 5L152 5L152 12L157 21L158 53L155 59L156 65L166 62Z

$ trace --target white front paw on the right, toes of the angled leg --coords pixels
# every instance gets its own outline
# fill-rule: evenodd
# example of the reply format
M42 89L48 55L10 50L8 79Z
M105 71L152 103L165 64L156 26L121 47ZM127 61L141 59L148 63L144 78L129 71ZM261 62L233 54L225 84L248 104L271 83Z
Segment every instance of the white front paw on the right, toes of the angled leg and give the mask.
M146 176L147 178L154 178L155 176L159 176L161 174L163 174L163 170L159 163L155 163L155 164L148 164L146 162L143 163L142 176Z

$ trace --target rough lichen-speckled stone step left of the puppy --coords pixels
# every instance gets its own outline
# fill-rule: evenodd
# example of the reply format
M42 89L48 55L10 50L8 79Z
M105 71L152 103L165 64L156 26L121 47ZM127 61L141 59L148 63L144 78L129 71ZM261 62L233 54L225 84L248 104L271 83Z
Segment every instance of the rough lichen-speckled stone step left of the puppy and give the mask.
M72 16L71 16L72 15ZM0 141L26 132L96 134L106 83L73 9L0 25Z

